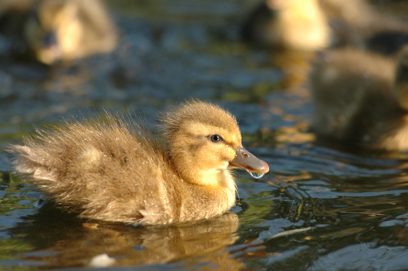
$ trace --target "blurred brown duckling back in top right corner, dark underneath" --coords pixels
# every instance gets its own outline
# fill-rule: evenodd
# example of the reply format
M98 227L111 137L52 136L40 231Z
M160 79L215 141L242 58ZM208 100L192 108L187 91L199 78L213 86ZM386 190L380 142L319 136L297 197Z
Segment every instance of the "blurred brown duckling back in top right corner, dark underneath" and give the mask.
M320 0L336 45L393 55L408 42L408 26L366 0Z

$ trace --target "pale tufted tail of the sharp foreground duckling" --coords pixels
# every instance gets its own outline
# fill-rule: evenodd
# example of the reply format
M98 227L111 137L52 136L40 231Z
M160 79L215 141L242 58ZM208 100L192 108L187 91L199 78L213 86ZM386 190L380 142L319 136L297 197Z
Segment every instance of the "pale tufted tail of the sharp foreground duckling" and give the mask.
M12 165L16 172L31 175L38 181L55 181L54 174L38 148L10 145L6 151L14 156Z

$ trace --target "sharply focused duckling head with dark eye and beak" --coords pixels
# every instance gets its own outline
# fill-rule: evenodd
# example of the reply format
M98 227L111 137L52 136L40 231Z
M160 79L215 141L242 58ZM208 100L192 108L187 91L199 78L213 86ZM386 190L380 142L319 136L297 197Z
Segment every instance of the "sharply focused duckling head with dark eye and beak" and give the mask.
M232 168L267 173L269 166L242 147L233 115L201 101L187 102L160 119L167 154L183 180L198 185L231 185Z

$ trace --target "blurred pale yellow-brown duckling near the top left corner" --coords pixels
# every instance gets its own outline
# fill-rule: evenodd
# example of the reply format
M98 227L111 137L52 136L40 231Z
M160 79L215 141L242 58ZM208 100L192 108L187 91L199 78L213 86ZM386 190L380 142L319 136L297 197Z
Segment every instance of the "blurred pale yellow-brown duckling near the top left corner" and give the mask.
M111 51L117 38L98 0L39 0L24 25L23 36L44 64Z

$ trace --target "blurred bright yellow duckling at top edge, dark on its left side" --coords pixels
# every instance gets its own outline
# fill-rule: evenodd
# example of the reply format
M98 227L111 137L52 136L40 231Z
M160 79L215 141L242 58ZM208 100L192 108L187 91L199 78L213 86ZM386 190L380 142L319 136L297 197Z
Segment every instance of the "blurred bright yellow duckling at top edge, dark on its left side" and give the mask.
M330 45L330 28L318 0L266 0L251 12L242 35L268 47L316 50Z

